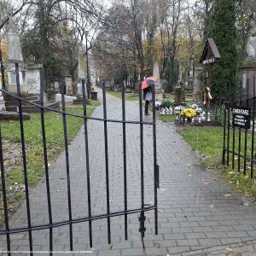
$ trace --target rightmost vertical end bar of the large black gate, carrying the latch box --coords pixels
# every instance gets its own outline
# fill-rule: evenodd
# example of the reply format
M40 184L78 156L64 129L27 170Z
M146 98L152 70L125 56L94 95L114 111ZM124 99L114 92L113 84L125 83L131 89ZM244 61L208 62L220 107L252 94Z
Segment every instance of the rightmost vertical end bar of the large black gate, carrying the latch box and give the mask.
M157 152L156 152L156 117L155 117L155 87L153 85L152 92L152 101L153 101L153 150L154 150L154 231L155 235L158 235L158 208L157 208L157 189L159 184L159 168L157 166ZM156 180L158 177L158 180Z

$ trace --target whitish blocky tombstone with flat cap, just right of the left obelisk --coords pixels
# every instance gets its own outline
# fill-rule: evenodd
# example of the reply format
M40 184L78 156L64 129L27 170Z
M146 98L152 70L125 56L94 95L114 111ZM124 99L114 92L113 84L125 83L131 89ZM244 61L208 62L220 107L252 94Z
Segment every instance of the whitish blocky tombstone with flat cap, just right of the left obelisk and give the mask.
M40 95L40 71L42 64L29 63L26 65L26 85L28 94Z

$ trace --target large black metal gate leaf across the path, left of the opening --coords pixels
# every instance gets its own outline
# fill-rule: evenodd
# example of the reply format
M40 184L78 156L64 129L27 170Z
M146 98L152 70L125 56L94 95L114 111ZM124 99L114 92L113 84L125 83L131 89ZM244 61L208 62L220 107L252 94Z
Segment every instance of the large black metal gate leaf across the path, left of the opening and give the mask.
M54 249L54 242L53 242L53 229L56 227L61 226L69 226L69 246L70 251L73 251L73 224L79 224L88 222L89 224L89 234L88 237L90 241L90 247L93 246L93 239L92 239L92 222L98 219L106 218L108 224L108 243L111 243L111 228L110 228L110 221L111 218L117 216L124 216L124 224L125 224L125 240L128 239L128 215L134 213L140 213L139 217L139 232L143 237L145 236L145 212L154 211L154 226L155 226L155 234L158 234L158 210L157 210L157 189L159 187L159 166L157 165L157 156L156 156L156 125L155 125L155 96L154 96L154 88L153 88L153 121L152 122L145 122L143 121L143 95L142 90L139 93L139 111L140 111L140 119L139 121L136 120L127 120L125 118L125 87L123 85L122 88L122 119L108 119L107 117L107 103L106 103L106 86L102 84L102 96L103 96L103 119L100 118L92 118L87 116L87 109L86 109L86 95L85 95L85 86L84 80L82 81L82 90L83 90L83 109L84 115L67 113L66 112L66 104L65 104L65 96L64 96L64 83L61 83L61 110L48 108L44 106L44 77L43 71L41 72L41 104L36 104L34 102L28 102L21 97L20 93L20 78L19 78L19 66L15 64L15 73L16 73L16 84L17 84L17 96L14 94L9 93L6 90L1 90L4 95L11 96L15 100L19 102L18 104L18 112L19 112L19 120L20 120L20 139L21 139L21 150L22 150L22 162L23 162L23 175L24 175L24 183L25 183L25 193L26 193L26 218L27 218L27 226L20 227L15 229L9 228L9 211L8 211L8 200L7 200L7 192L6 192L6 177L5 177L5 168L4 168L4 152L3 152L3 140L2 138L4 135L1 133L1 126L0 126L0 162L1 162L1 178L2 178L2 192L3 192L3 211L4 211L4 222L5 222L5 229L0 230L0 235L6 236L7 241L7 251L8 255L11 255L11 246L10 246L10 236L12 234L17 233L28 233L29 237L29 249L30 254L33 255L33 244L32 244L32 232L35 230L49 230L49 255L52 255ZM49 216L49 223L48 224L38 224L32 225L31 221L31 203L30 203L30 195L29 195L29 187L28 187L28 180L27 180L27 166L26 166L26 141L24 137L24 122L23 122L23 115L22 115L22 105L23 102L26 104L31 104L32 106L38 108L41 113L41 129L42 129L42 138L43 138L43 148L44 148L44 172L45 172L45 185L46 185L46 192L47 192L47 205L48 205L48 216ZM44 112L50 111L55 113L61 113L63 119L63 136L64 136L64 143L65 143L65 156L66 156L66 172L67 172L67 201L68 201L68 216L69 218L64 221L54 222L52 219L52 202L51 202L51 195L50 195L50 182L49 182L49 165L48 165L48 148L46 144L46 134L45 134L45 124L44 124ZM72 211L72 198L71 198L71 183L70 183L70 170L69 170L69 158L70 155L68 154L68 140L67 140L67 116L73 116L78 119L84 119L84 143L85 143L85 160L86 160L86 179L87 179L87 201L88 201L88 216L84 216L84 218L73 218L73 211ZM106 190L107 190L107 212L103 212L101 215L93 215L91 211L91 191L90 191L90 154L89 154L89 147L88 147L88 131L87 131L87 123L89 119L94 119L104 124L104 143L105 143L105 163L106 163ZM109 181L108 181L108 122L113 123L120 123L123 125L123 172L124 172L124 203L125 208L123 211L120 212L111 212L110 204L109 204ZM140 127L140 181L141 181L141 207L137 209L129 209L127 207L127 175L126 175L126 166L127 161L129 159L126 158L126 124L134 124L139 125ZM146 205L144 202L144 164L143 164L143 127L144 125L152 125L153 127L153 158L154 158L154 204L153 205ZM143 244L144 248L144 244Z

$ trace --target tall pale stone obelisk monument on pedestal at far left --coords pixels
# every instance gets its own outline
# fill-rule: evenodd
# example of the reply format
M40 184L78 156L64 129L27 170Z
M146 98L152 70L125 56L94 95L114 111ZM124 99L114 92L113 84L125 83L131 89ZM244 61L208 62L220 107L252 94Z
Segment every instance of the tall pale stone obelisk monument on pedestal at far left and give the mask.
M17 94L15 63L19 64L20 75L20 92L21 95L27 94L26 86L26 70L24 69L23 56L20 47L20 37L17 27L12 19L9 20L7 29L7 43L8 43L8 81L7 90L11 93Z

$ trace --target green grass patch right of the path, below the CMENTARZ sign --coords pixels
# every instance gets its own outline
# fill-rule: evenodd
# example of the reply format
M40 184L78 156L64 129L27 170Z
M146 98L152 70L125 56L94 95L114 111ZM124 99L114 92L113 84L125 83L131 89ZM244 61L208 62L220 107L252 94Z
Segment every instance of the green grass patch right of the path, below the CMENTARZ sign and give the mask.
M184 140L204 157L203 163L209 170L220 172L230 185L247 196L256 196L255 179L251 179L250 162L246 163L246 175L243 174L244 160L241 158L241 170L238 172L238 157L235 156L235 168L232 170L232 154L230 166L222 166L223 128L222 127L190 127L180 131ZM238 153L238 131L235 131L235 152ZM233 131L230 130L230 149L232 149ZM251 157L252 137L247 135L247 156ZM226 143L228 138L226 140ZM245 152L245 132L241 131L241 154ZM255 146L255 145L254 145ZM227 155L226 155L227 158ZM255 160L255 155L253 157ZM256 166L254 166L256 169ZM255 170L256 171L256 170Z

